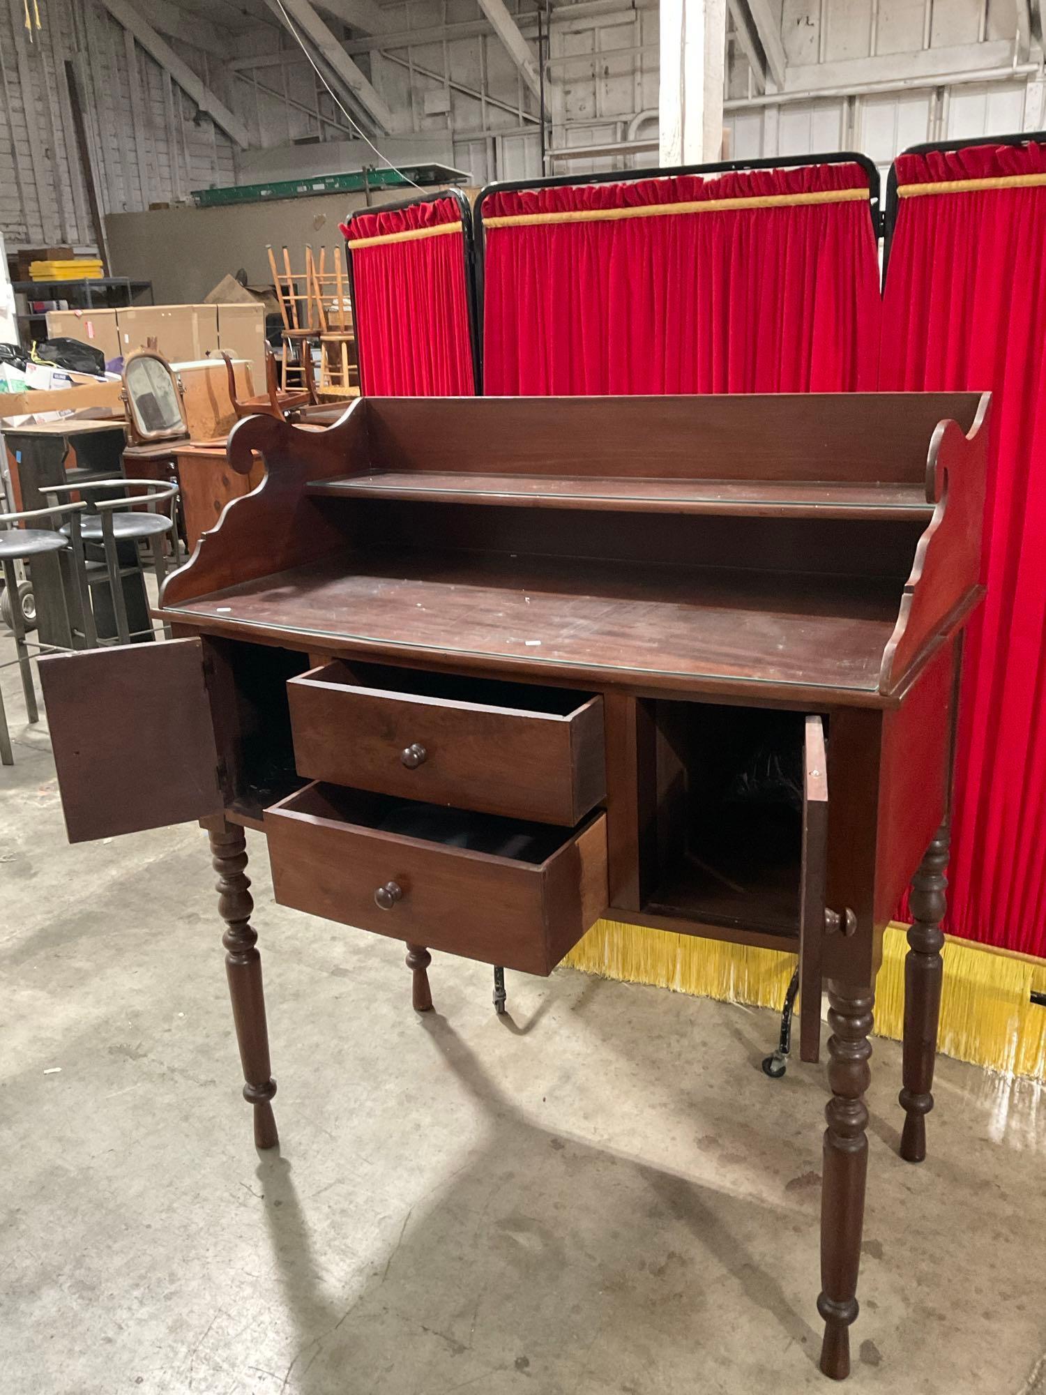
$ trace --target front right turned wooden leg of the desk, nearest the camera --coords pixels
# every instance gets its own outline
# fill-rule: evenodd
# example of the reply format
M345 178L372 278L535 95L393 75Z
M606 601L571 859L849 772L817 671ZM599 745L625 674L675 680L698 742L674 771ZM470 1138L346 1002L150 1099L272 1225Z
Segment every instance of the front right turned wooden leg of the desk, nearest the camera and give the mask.
M867 1109L872 1078L872 988L828 983L828 1084L824 1109L824 1182L821 1187L821 1295L824 1318L821 1371L841 1381L849 1375L849 1325L858 1315L858 1267L865 1223Z

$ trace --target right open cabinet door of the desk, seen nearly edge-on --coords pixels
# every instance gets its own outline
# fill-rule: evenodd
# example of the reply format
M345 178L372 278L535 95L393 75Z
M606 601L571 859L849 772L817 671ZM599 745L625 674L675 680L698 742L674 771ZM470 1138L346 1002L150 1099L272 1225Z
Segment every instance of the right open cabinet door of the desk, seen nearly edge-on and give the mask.
M803 852L799 886L799 1059L819 1060L821 942L828 862L828 762L824 721L806 718L803 739Z

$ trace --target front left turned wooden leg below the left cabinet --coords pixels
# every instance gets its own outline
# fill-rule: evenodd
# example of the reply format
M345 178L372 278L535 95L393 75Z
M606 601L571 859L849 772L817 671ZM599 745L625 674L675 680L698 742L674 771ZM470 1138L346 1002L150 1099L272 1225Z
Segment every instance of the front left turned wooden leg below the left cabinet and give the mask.
M272 1096L276 1081L269 1064L269 1031L265 1024L265 995L261 981L261 956L255 949L258 933L251 926L254 900L248 890L251 880L247 866L247 840L243 829L226 823L211 833L211 858L218 872L218 908L226 922L222 943L229 975L229 996L233 1000L236 1039L243 1062L243 1096L254 1105L254 1143L258 1148L275 1148L279 1143Z

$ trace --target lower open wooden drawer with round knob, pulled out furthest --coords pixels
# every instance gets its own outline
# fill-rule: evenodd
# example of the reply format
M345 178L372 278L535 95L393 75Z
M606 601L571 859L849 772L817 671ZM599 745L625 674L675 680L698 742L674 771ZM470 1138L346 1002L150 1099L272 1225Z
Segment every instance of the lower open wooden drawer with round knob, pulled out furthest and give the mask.
M282 905L529 974L607 905L604 815L565 831L311 784L265 831Z

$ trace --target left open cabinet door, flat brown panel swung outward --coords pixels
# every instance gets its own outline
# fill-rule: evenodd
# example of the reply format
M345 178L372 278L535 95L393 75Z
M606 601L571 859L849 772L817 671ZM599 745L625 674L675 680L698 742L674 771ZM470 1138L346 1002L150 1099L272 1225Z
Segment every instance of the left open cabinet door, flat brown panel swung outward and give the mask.
M198 639L39 660L70 843L223 809Z

